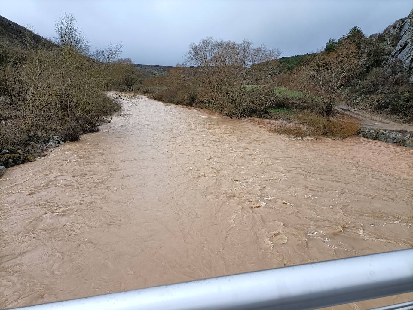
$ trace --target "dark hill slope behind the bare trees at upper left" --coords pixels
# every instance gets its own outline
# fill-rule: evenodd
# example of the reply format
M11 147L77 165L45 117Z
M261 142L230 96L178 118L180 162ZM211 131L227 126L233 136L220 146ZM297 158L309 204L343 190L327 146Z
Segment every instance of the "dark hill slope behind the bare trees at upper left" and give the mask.
M8 20L5 17L0 16L0 39L6 41L14 41L18 43L24 43L24 36L26 33L33 35L31 42L33 42L33 48L37 46L50 46L54 44L47 39L39 36L37 33L33 33L27 30L25 27Z

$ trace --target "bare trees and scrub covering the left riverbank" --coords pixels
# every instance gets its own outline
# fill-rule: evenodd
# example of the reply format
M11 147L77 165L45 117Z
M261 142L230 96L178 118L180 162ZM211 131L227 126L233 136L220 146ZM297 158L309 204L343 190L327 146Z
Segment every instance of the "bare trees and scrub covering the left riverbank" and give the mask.
M122 45L92 50L73 15L63 14L55 31L53 43L39 39L30 27L0 42L3 155L37 156L53 136L76 141L96 130L107 117L122 114L116 100L122 94L109 98L102 90L114 84L131 90L137 80L131 60L119 58Z

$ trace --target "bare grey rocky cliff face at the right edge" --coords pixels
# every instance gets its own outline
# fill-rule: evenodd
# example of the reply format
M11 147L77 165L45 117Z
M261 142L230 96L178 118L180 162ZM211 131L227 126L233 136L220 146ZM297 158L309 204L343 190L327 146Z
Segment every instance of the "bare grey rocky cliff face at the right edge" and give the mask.
M393 42L398 43L392 50L389 62L401 60L404 73L410 76L410 83L413 84L413 10L408 17L396 21L388 31L393 36Z

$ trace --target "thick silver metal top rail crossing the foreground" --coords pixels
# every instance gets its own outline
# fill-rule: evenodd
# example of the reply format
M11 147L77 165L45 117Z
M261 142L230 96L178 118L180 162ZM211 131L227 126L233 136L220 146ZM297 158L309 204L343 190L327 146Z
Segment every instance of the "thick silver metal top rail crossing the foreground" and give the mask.
M20 309L304 310L411 291L413 249L407 249L155 286Z

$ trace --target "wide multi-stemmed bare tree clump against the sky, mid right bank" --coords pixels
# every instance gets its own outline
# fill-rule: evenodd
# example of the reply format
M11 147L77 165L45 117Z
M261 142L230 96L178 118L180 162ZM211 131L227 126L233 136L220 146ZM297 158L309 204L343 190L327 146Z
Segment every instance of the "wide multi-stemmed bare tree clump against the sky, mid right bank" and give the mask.
M190 45L185 65L197 67L189 78L197 83L198 100L230 117L261 116L278 97L271 76L280 55L278 49L253 47L248 40L236 43L207 37Z

